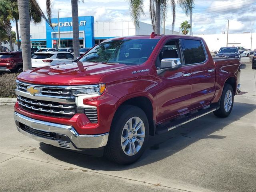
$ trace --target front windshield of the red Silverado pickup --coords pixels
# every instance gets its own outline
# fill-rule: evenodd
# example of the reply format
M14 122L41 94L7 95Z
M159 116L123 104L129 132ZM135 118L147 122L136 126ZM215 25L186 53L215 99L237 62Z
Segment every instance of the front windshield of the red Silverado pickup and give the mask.
M142 64L156 47L158 39L117 39L102 42L79 61Z

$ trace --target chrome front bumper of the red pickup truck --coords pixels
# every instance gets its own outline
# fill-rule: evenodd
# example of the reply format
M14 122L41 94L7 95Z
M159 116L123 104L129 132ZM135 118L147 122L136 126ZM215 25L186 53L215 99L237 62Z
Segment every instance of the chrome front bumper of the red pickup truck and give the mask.
M85 150L106 146L108 142L108 133L79 135L72 126L35 120L17 112L14 112L14 120L22 134L60 148Z

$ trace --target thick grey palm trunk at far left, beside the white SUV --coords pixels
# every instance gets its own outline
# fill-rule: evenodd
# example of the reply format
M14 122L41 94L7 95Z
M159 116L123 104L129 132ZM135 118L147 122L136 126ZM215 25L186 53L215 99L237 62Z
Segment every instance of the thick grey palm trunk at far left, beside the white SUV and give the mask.
M23 70L31 68L29 0L18 0Z

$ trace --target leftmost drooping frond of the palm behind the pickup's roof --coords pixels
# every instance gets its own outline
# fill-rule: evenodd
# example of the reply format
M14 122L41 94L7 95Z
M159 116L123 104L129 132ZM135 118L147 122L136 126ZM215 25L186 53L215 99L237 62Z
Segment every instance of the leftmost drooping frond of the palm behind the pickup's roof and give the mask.
M129 5L130 5L130 15L132 17L132 20L134 22L134 25L139 27L139 19L140 15L144 13L144 5L143 5L143 0L129 0Z

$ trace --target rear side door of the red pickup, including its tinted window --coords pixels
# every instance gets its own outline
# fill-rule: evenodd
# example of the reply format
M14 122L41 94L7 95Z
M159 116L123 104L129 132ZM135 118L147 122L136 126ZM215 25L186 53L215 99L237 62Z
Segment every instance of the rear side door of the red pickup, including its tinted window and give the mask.
M204 42L200 39L182 39L185 65L192 70L191 108L210 104L215 94L215 65L208 58Z

